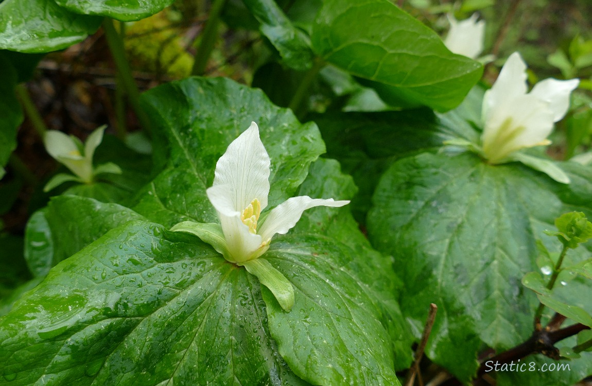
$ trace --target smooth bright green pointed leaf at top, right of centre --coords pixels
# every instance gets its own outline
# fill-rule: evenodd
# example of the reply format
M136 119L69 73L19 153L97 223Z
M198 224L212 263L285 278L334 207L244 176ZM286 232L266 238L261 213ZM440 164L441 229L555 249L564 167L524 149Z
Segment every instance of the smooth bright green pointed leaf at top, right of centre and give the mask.
M319 56L367 79L387 103L450 110L481 78L480 63L452 54L434 31L387 0L324 1L311 39Z

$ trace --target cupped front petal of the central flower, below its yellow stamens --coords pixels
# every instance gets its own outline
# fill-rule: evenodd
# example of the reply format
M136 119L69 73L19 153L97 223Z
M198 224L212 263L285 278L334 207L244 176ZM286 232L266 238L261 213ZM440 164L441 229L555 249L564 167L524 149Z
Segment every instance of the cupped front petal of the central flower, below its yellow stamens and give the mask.
M259 234L250 233L249 227L240 220L240 215L219 215L224 239L233 262L240 263L257 258L267 250L263 245L262 237Z

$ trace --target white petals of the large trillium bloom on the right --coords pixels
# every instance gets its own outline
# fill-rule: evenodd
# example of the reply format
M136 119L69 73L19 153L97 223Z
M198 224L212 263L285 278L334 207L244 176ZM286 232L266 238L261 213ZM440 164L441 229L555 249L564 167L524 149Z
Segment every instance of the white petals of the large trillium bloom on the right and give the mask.
M509 162L517 150L551 143L546 138L567 113L578 83L550 78L527 93L526 64L519 53L511 54L483 99L483 156L492 164Z

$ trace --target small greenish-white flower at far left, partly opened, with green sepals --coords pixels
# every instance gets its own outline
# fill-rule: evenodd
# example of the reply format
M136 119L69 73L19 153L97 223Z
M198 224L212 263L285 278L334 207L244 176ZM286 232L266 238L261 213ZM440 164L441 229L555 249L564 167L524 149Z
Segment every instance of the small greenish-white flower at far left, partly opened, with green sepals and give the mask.
M89 184L93 181L94 176L100 173L121 173L121 169L111 162L97 168L92 166L92 156L95 154L96 147L103 140L104 131L105 126L97 128L88 136L86 143L82 146L82 143L75 137L67 136L62 131L48 130L43 137L47 153L70 169L76 176L63 173L57 174L47 182L44 191L50 191L66 181Z

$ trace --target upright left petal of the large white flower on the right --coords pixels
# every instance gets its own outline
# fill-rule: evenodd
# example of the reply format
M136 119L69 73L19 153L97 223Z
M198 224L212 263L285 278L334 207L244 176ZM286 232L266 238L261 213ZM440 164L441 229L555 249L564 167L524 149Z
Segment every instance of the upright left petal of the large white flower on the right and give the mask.
M520 54L514 52L510 55L497 77L491 89L485 92L483 97L482 120L487 123L493 115L493 107L502 104L509 99L525 95L526 88L526 63Z

